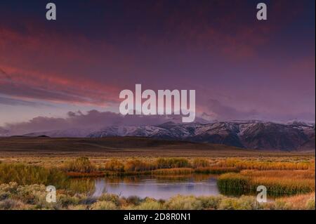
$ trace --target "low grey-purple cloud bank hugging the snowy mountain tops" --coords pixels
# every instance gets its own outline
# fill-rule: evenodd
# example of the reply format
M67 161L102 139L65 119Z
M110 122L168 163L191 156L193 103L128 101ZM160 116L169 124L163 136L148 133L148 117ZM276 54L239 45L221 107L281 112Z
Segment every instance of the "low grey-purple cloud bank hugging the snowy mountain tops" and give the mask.
M204 113L208 119L213 117L220 121L229 121L232 119L258 119L261 117L263 120L268 121L290 121L303 117L303 121L315 121L315 114L288 114L287 116L271 114L270 116L263 116L256 111L240 112L232 107L221 105L218 100L210 100L210 108L212 108L212 114L216 114L216 117ZM68 112L65 118L55 117L34 117L26 122L20 122L15 124L6 124L4 127L0 127L4 130L9 130L10 135L22 135L26 133L44 132L44 131L58 131L58 130L70 130L77 129L80 131L93 130L105 128L112 125L157 125L166 121L180 122L181 115L176 116L142 116L142 115L126 115L122 116L114 112L100 112L98 110L91 110L86 113ZM203 116L202 116L203 117ZM205 117L205 118L206 118ZM197 117L197 122L206 123L206 120L201 117Z

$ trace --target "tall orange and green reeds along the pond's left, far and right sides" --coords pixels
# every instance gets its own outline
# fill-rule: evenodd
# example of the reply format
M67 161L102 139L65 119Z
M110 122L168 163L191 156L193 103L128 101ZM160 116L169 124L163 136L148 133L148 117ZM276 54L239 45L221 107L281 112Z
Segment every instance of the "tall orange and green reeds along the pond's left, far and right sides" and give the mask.
M79 192L91 190L93 185L70 181L71 177L124 176L151 174L178 176L191 173L218 174L221 192L238 195L256 192L264 185L269 195L298 195L315 191L315 161L157 158L109 159L105 163L93 163L87 157L70 160L57 167L41 167L25 164L0 164L0 183L15 182L19 185L44 184L58 188L76 188Z

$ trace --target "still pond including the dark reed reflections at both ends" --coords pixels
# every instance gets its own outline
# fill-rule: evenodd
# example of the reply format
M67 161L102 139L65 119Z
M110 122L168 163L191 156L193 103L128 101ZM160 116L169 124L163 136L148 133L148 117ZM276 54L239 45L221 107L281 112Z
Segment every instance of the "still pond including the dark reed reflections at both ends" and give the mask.
M190 174L188 176L121 176L106 178L74 178L71 190L86 193L98 198L104 193L120 197L137 196L154 199L169 199L176 195L217 196L225 195L240 197L242 195L256 196L258 192L249 190L220 189L216 175ZM286 195L281 195L286 196ZM280 195L270 195L273 200Z

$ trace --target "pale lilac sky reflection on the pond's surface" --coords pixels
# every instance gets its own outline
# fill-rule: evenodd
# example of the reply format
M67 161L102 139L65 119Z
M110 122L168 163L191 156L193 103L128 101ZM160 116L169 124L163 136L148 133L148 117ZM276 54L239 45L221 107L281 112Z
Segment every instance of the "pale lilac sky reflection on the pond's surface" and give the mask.
M174 195L219 195L216 178L197 182L192 179L169 182L155 178L142 178L137 183L124 183L122 180L117 183L108 183L105 179L98 179L93 197L100 197L103 192L123 197L136 195L141 198L152 197L155 199L168 199Z

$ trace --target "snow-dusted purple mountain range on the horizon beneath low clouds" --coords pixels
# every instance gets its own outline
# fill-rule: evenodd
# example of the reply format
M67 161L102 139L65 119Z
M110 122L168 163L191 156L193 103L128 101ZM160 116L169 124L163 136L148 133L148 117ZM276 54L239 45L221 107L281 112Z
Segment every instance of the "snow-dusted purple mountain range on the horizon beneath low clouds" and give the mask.
M265 121L216 121L210 124L107 126L99 130L67 129L27 133L25 136L87 137L138 136L164 140L213 143L255 150L315 150L315 124L294 121L278 124Z

